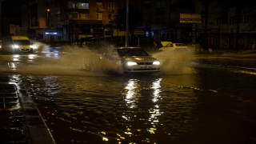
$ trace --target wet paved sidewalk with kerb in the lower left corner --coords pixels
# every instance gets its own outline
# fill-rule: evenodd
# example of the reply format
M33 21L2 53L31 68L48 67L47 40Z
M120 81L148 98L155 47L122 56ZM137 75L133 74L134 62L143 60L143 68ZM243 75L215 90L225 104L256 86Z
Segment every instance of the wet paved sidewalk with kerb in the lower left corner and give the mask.
M0 143L54 144L26 87L8 74L0 74Z

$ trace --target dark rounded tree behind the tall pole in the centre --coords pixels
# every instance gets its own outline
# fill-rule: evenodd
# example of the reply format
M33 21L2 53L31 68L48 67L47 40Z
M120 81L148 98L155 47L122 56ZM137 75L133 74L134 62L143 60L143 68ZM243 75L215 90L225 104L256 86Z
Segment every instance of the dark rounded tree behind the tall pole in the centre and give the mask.
M129 6L129 30L133 32L138 25L142 23L142 14L140 11L134 7ZM114 24L119 30L126 30L126 7L122 7L118 10L118 13L115 15Z

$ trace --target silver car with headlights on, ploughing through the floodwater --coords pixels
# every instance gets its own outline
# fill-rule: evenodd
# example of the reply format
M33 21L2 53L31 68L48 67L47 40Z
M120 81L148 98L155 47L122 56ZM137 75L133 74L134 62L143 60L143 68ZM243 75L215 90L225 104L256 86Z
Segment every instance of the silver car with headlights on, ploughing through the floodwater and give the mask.
M118 55L123 73L160 72L160 62L141 47L114 47L107 50L102 58Z

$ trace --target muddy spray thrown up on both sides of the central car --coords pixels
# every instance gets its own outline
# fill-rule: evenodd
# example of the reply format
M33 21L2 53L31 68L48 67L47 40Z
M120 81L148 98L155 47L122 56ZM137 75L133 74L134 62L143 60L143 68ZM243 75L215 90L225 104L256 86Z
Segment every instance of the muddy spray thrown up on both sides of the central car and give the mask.
M118 61L118 54L109 53L102 59L106 51L113 50L114 46L108 43L93 47L62 46L59 50L51 48L40 42L33 60L28 58L16 66L19 73L25 74L57 74L57 75L108 75L122 74L122 65ZM45 54L45 55L44 55ZM193 49L165 50L153 54L161 62L160 74L191 74Z

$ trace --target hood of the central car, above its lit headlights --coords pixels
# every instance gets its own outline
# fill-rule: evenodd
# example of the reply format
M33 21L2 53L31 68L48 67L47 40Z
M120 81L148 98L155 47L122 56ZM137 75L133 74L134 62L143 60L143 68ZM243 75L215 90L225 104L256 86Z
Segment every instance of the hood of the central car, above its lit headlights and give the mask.
M150 56L124 56L122 57L123 61L132 61L132 62L154 62L158 61L158 59L150 57Z

